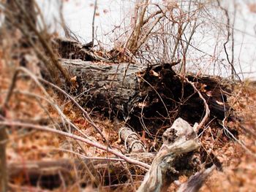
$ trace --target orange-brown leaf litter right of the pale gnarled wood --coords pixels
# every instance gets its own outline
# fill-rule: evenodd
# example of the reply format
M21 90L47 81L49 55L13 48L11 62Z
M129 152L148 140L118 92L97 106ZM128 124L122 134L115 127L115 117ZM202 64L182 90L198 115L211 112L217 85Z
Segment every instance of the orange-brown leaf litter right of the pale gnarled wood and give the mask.
M216 155L223 164L223 172L214 171L201 191L255 191L256 190L256 88L238 86L230 98L237 115L242 118L239 140L219 148Z

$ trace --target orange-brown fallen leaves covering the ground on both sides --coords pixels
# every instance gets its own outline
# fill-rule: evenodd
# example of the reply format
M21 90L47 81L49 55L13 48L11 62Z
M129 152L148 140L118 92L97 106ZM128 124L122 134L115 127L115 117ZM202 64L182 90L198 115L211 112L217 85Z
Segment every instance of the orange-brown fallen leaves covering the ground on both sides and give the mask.
M0 50L0 104L3 104L7 92L12 82L12 74L18 63L7 64L6 50ZM75 123L83 133L89 137L93 137L97 142L102 143L102 138L88 121L83 118L72 104L63 104L63 98L53 91L48 90L49 95L56 101L64 115ZM42 122L50 116L54 121L60 120L58 113L53 107L50 107L47 100L40 98L45 97L42 89L35 85L33 80L21 77L15 87L15 92L9 102L9 108L6 110L6 118L9 120L20 120L23 122ZM233 96L229 99L230 105L241 118L241 125L238 128L238 139L241 143L234 139L228 139L227 142L216 142L211 137L211 130L208 130L201 140L214 155L217 156L222 164L222 171L215 170L203 185L200 191L255 191L256 190L256 88L249 82L243 82L236 85ZM94 114L94 122L102 133L109 140L110 145L116 148L122 148L121 142L118 140L117 126L108 119L102 118L100 115ZM235 126L235 125L234 125ZM236 126L237 127L237 126ZM42 160L58 160L61 158L75 158L75 153L83 153L75 151L74 145L77 143L60 137L55 134L43 131L27 130L26 128L8 128L8 144L7 144L7 162L26 161L42 161ZM77 133L79 135L79 133ZM145 139L145 138L143 138ZM241 145L242 144L242 145ZM72 145L72 146L71 146ZM205 146L206 146L205 145ZM84 151L88 156L101 156L105 152L95 147L83 144ZM26 169L26 167L24 167ZM138 177L139 178L139 177ZM141 177L140 177L141 179ZM184 182L188 178L180 177L180 181ZM12 188L20 191L21 186L26 177L15 177L12 181ZM138 179L139 180L139 179ZM138 187L138 186L137 186ZM129 186L132 188L132 186ZM127 187L127 191L129 189ZM176 188L175 186L173 188ZM79 191L78 185L67 186L67 191ZM103 187L104 190L108 189ZM120 190L120 188L119 188ZM23 190L24 191L24 190ZM26 191L26 190L25 190ZM33 188L29 188L33 191ZM63 191L63 188L54 191ZM116 190L118 191L118 190ZM172 191L172 188L170 188Z

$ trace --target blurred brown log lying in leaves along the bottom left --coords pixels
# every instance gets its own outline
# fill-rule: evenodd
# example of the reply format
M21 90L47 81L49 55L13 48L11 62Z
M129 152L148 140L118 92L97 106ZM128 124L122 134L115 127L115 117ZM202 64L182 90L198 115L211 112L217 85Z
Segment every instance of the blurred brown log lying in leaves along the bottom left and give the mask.
M101 178L103 183L109 183L109 181L115 183L116 180L126 181L123 175L123 172L125 172L123 165L118 161L108 160L59 159L12 163L8 164L7 170L10 183L20 178L23 185L58 188L62 184L74 184L78 180L76 177L83 178L82 183L93 184L94 181L90 179L89 174Z

